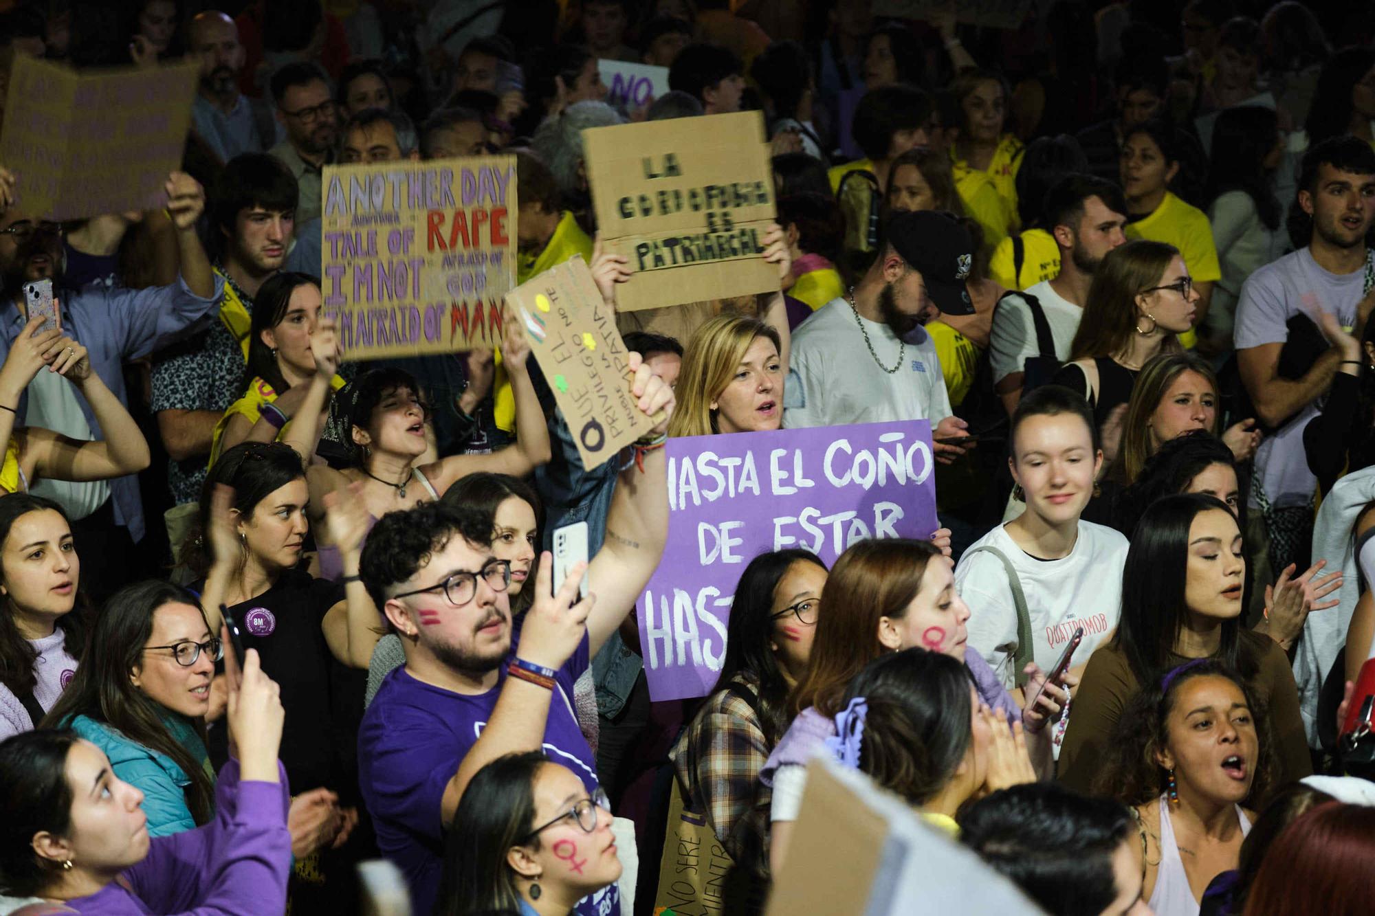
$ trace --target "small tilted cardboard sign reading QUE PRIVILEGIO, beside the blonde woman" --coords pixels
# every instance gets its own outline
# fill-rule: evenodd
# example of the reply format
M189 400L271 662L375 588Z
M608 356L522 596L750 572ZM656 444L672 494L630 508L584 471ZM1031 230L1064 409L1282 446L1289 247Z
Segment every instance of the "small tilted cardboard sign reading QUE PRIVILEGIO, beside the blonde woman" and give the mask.
M582 254L521 283L506 303L507 318L525 329L584 468L602 465L654 428L630 393L626 342Z

